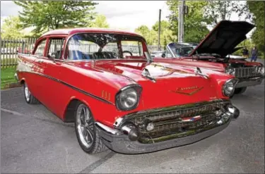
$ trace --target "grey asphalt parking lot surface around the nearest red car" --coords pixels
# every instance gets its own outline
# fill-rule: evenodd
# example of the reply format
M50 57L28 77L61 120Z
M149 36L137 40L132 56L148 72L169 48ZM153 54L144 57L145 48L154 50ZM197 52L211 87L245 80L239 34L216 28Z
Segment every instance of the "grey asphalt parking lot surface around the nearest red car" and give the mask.
M264 173L264 83L232 102L240 117L217 135L151 154L88 155L73 124L25 103L22 87L1 91L1 173Z

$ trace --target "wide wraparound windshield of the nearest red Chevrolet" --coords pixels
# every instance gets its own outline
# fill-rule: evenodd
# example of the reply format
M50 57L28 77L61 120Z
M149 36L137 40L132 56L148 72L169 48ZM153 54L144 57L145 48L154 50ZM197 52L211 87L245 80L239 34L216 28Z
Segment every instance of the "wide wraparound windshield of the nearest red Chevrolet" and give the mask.
M145 58L141 37L110 33L73 35L66 47L69 60Z

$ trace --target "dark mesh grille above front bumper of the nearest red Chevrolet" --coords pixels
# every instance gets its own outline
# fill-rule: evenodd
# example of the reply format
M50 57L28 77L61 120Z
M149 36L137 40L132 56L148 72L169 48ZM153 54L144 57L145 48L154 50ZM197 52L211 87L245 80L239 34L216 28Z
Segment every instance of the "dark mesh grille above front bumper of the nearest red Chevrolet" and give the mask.
M153 139L185 130L203 128L206 125L216 123L216 121L220 120L220 116L216 116L215 111L223 110L225 105L229 103L230 101L218 101L208 102L199 106L158 109L154 112L132 116L129 120L138 126L141 137ZM194 116L201 116L201 118L192 122L182 121L184 118L192 118ZM146 130L146 123L148 122L152 122L154 125L154 129L151 131Z

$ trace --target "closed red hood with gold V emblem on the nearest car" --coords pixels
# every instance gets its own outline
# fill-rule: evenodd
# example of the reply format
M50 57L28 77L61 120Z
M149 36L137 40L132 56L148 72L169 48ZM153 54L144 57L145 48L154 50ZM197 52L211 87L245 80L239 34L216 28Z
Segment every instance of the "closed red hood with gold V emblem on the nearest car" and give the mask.
M201 75L196 75L194 69L187 66L137 61L112 61L109 63L95 63L94 68L129 78L141 85L143 87L141 97L144 108L209 101L218 99L218 94L220 94L216 90L218 83L215 79L211 77L206 79ZM155 79L155 82L142 75L145 69ZM124 80L122 77L120 79ZM113 80L112 84L114 83ZM172 100L172 97L175 99ZM168 100L165 101L166 99Z

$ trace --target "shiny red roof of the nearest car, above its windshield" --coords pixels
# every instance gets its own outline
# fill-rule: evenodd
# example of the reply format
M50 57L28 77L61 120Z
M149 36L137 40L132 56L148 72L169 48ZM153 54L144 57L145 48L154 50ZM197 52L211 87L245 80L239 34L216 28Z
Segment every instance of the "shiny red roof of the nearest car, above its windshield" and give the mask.
M96 27L81 27L81 28L67 28L67 29L57 29L51 30L49 32L45 32L41 37L47 35L73 35L79 32L109 32L109 33L117 33L117 34L124 34L124 35L134 35L138 37L143 37L135 32L126 32L123 30L112 30L107 28L96 28Z

